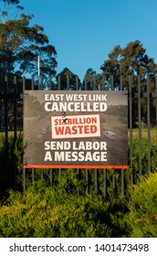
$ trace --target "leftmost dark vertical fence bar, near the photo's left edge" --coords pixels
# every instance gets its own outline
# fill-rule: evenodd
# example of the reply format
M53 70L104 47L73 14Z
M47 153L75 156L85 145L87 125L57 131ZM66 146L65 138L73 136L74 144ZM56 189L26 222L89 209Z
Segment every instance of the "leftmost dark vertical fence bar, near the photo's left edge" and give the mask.
M8 188L8 77L5 75L5 191Z

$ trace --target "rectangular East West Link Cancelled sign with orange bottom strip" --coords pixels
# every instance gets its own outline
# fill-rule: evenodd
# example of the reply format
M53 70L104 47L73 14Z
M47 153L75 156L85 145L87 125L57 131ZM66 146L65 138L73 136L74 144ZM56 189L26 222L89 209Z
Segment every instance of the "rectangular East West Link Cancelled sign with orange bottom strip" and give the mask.
M25 168L127 168L127 91L25 91Z

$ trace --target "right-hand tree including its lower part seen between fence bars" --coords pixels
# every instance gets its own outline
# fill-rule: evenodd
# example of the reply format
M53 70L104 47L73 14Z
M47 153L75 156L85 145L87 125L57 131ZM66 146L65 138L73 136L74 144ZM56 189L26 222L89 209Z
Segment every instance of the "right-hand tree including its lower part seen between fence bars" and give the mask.
M132 93L138 92L138 78L140 78L141 93L147 91L147 76L150 78L150 91L155 91L155 73L157 64L152 58L146 54L146 49L143 48L139 40L130 42L125 48L120 45L113 48L109 54L109 59L105 60L100 69L105 76L106 86L111 84L113 80L115 90L122 88L129 89L129 77L131 78ZM150 102L151 107L151 121L155 123L155 109L156 102L154 99ZM138 102L137 99L133 101L133 122L138 121ZM141 119L147 123L147 105L145 99L141 98Z

